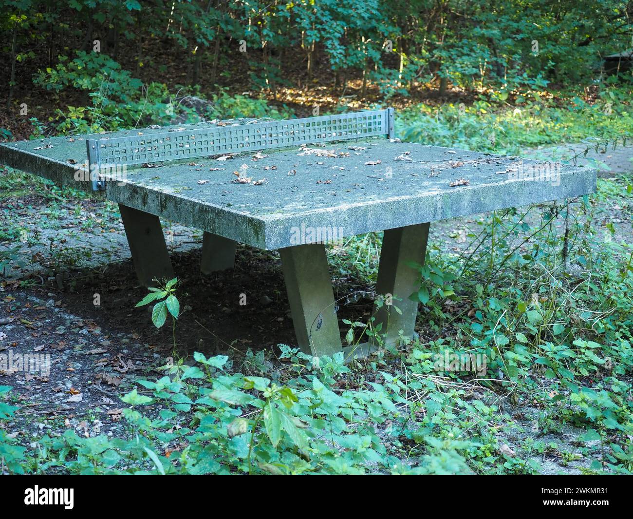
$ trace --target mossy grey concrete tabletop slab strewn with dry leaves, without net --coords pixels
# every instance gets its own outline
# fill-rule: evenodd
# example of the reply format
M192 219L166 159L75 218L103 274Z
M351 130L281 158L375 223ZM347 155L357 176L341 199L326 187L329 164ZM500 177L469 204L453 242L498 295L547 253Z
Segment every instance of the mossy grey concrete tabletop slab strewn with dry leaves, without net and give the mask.
M184 125L178 129L208 127ZM61 184L77 181L87 138L169 127L0 144L0 162ZM587 167L371 138L127 167L104 196L255 247L296 245L293 231L382 231L595 191ZM539 179L535 171L555 172ZM520 172L531 171L522 175ZM239 172L242 182L235 172ZM249 183L245 179L250 178ZM452 184L452 185L451 185ZM455 185L458 184L458 185ZM342 237L342 236L339 236Z

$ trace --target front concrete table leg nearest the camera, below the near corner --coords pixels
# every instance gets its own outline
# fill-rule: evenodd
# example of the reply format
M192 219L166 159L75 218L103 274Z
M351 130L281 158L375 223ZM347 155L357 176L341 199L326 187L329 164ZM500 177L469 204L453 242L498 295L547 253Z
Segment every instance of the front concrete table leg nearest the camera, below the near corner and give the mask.
M332 279L322 244L279 250L299 347L314 356L341 351Z

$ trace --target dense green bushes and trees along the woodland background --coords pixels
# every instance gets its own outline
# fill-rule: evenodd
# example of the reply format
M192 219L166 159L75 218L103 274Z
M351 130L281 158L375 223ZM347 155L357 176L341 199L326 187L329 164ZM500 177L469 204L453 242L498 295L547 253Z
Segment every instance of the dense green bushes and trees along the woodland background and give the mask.
M368 82L389 96L433 78L445 80L442 88L451 81L534 89L591 82L600 56L624 49L631 29L630 8L620 0L1 0L0 6L3 77L15 82L22 70L48 67L56 72L47 81L58 85L65 84L70 60L82 59L77 51L97 51L125 61L136 75L164 76L168 63L184 62L189 84L210 86L230 84L247 70L253 86L274 91L289 82L287 68L302 62L308 79L317 68L339 85L362 79L363 94ZM103 63L108 70L111 63Z

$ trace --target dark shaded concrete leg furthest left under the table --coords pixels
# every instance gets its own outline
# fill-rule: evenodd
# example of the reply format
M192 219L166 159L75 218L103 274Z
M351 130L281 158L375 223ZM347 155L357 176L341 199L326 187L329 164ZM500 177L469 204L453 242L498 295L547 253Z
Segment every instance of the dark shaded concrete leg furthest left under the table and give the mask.
M172 262L158 216L122 204L119 210L139 283L156 286L154 278L172 279Z

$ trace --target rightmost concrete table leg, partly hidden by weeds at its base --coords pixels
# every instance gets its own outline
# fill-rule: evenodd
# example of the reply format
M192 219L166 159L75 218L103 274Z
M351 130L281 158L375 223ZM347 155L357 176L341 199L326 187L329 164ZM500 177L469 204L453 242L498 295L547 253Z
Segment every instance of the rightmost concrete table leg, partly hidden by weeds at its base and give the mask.
M415 317L418 302L411 301L409 296L420 288L420 274L409 264L415 262L423 265L429 239L429 224L418 224L398 229L388 229L382 239L380 264L376 292L379 295L391 294L393 305L383 305L376 314L374 324L382 323L381 335L385 335L387 343L398 340L399 330L404 337L412 337L415 333ZM396 300L398 297L400 300Z

